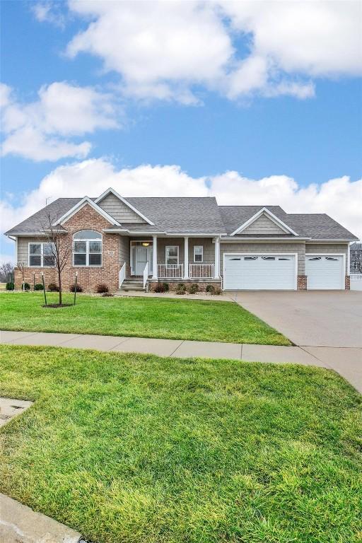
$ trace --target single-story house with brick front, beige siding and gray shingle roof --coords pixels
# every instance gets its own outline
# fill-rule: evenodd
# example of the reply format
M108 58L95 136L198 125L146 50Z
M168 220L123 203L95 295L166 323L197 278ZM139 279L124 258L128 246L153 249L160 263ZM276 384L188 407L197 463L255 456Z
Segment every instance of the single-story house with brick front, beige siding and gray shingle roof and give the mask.
M279 206L218 206L215 198L59 198L6 232L16 241L25 281L56 282L47 216L73 243L64 288L111 291L139 281L197 282L225 290L349 288L349 245L357 238L325 214L286 214ZM16 269L16 288L21 270ZM136 283L137 284L137 283ZM131 283L133 285L133 283Z

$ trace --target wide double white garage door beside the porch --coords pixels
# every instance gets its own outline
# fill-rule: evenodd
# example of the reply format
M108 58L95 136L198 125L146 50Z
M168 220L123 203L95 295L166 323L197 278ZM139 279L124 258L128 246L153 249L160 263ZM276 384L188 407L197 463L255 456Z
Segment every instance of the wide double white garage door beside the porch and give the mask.
M223 288L234 290L295 290L294 255L225 255Z

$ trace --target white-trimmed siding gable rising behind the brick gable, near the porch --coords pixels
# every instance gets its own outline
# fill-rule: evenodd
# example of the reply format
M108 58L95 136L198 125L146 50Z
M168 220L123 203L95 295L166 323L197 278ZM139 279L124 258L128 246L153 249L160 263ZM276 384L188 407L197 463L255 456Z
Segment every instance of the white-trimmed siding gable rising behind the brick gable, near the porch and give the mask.
M110 216L121 224L124 223L148 223L153 225L141 211L127 202L115 189L109 188L95 200L95 204L100 206Z

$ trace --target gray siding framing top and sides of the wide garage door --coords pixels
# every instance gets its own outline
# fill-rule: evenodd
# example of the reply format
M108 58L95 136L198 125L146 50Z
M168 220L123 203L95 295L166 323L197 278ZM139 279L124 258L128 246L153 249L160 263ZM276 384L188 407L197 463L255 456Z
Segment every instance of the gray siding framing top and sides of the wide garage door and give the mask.
M226 252L284 252L298 253L298 274L305 274L305 243L221 243L220 272L223 273L223 255Z

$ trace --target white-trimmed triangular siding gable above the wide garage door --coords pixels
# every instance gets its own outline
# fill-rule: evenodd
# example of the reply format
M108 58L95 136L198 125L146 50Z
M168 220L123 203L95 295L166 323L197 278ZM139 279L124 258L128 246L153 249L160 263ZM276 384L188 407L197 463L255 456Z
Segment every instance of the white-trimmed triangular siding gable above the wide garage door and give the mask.
M259 209L255 215L239 226L231 235L298 235L290 226L271 213L267 207Z

